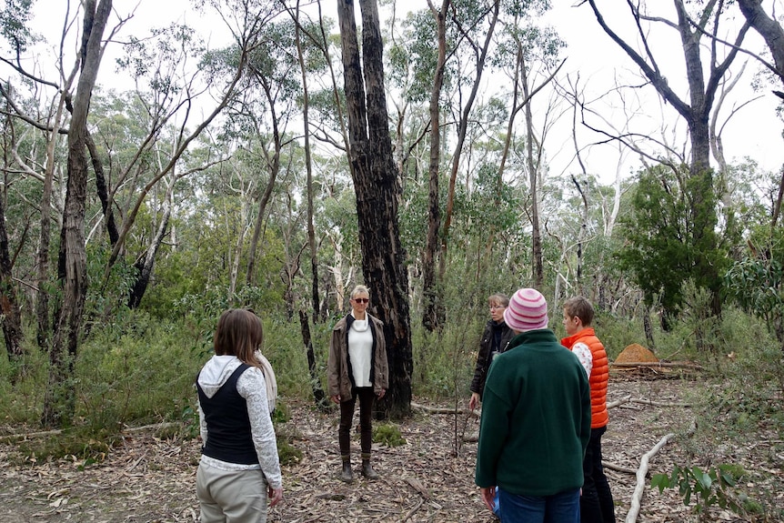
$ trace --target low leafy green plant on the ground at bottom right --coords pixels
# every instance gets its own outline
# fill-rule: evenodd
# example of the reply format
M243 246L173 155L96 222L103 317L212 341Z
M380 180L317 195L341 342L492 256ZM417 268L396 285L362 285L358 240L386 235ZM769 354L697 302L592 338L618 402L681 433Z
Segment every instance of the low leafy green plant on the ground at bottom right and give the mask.
M736 514L743 513L742 504L746 496L736 495L734 488L745 475L746 471L737 465L719 465L705 471L699 467L675 466L670 476L655 474L650 480L650 487L658 488L659 492L677 487L684 505L689 505L694 496L694 511L700 519L704 519L708 508L714 505L729 508Z

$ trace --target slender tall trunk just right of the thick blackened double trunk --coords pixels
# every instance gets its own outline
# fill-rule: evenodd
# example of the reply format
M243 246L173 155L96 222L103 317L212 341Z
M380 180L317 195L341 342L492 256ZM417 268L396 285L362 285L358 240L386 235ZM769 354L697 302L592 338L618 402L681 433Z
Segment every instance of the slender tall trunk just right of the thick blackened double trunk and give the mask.
M441 227L441 206L438 178L441 166L441 118L438 101L444 84L444 69L447 64L447 7L450 0L443 0L441 9L430 8L436 18L438 37L438 62L430 91L430 164L428 173L430 186L427 196L427 241L422 256L422 297L425 301L422 326L432 332L438 327L438 293L436 289L436 256L438 254L438 229Z

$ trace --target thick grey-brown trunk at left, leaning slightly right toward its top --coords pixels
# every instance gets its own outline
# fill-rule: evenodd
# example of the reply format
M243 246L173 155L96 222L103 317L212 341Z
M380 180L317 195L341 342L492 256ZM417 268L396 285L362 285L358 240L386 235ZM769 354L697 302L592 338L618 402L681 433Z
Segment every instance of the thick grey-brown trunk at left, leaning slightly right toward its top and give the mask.
M58 307L55 338L49 351L51 367L42 416L45 427L70 424L74 416L75 390L73 382L68 378L73 374L87 291L87 115L101 63L101 38L112 12L112 0L100 0L98 5L95 5L95 0L85 0L84 8L82 71L76 86L74 113L68 130L68 185L57 268L62 303Z

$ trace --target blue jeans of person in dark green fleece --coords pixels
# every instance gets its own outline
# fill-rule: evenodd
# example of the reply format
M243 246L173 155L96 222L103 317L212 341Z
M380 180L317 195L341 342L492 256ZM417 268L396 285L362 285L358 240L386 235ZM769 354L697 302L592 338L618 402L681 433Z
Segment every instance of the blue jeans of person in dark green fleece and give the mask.
M552 496L518 496L499 489L503 523L579 523L580 489Z

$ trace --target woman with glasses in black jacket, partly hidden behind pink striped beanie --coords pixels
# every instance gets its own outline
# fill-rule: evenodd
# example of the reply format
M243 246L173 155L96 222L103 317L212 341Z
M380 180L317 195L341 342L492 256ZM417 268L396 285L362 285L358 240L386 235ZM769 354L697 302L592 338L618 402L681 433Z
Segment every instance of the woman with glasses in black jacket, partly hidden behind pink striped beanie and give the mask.
M479 406L482 400L482 393L485 390L485 380L487 370L493 357L507 350L509 340L514 333L504 321L504 311L509 305L509 298L504 294L494 294L487 298L487 305L490 307L490 319L487 321L485 332L479 341L479 352L477 354L477 367L474 369L474 378L471 380L471 399L468 400L468 408L471 410Z

